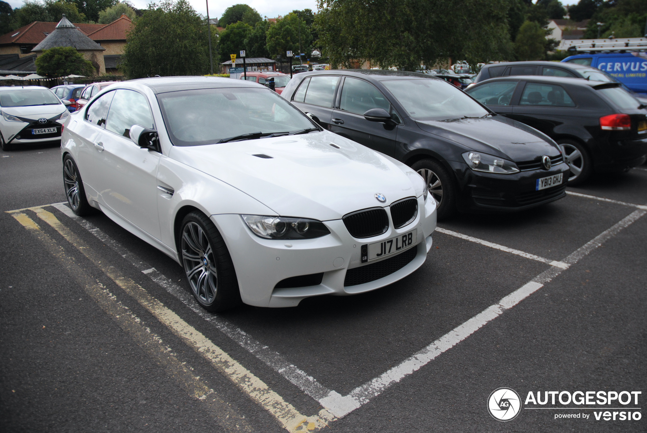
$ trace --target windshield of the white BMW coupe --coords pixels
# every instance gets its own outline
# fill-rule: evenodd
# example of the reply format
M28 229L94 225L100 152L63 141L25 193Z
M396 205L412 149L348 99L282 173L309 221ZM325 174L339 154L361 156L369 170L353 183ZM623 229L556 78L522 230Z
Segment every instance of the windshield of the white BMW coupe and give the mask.
M298 132L317 125L267 89L199 89L157 96L171 142L214 144L243 134Z

